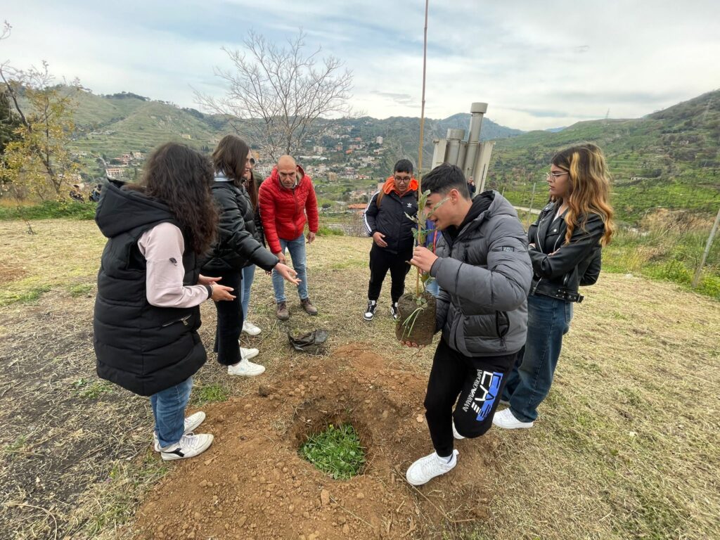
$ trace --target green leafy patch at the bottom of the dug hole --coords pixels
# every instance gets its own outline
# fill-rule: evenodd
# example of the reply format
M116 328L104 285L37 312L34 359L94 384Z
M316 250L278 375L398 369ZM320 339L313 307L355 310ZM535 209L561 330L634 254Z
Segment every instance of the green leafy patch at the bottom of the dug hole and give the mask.
M349 480L365 466L365 449L351 423L330 423L319 433L307 436L300 456L335 480Z

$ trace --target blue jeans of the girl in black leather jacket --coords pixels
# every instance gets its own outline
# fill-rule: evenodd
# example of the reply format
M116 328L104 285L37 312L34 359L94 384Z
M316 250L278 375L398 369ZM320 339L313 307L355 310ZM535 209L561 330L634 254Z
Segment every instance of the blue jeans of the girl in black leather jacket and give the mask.
M538 417L537 408L550 392L570 320L572 302L542 294L528 296L528 337L503 391L503 400L510 402L510 412L521 422Z

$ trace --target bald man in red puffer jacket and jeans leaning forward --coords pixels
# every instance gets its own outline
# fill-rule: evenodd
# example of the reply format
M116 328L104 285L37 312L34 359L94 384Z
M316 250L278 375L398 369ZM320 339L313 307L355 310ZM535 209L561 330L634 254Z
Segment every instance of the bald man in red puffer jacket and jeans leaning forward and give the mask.
M260 185L258 204L268 248L282 263L285 263L285 248L288 249L292 267L297 272L297 279L300 279L300 287L297 287L300 305L308 314L318 315L318 308L312 305L307 294L305 270L305 223L310 229L307 243L312 243L318 232L318 199L310 176L291 156L281 156L272 174ZM287 320L290 312L287 309L285 284L282 276L274 270L272 287L277 302L277 318Z

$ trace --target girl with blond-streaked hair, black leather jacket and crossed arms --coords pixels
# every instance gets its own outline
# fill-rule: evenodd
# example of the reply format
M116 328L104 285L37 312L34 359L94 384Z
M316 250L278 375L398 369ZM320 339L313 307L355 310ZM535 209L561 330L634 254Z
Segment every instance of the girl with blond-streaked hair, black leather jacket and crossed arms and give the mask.
M582 301L578 286L598 280L601 248L614 230L608 166L598 146L557 153L547 183L551 202L528 230L534 271L528 338L503 391L510 406L493 420L500 428L533 426L552 385L573 304Z

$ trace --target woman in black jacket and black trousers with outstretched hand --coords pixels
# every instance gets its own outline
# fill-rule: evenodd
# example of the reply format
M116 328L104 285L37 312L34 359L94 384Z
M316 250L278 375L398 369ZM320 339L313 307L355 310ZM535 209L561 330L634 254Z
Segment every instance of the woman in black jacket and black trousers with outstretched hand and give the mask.
M215 166L212 197L220 213L220 234L202 269L220 276L222 284L236 291L240 290L242 270L248 264L256 264L266 271L274 270L279 279L297 285L295 271L253 238L253 209L242 184L249 161L250 148L235 135L225 135L212 153ZM215 304L215 307L217 361L228 366L230 375L254 377L263 373L265 366L250 361L257 356L258 349L240 348L238 343L243 328L243 306L239 295L231 302Z

